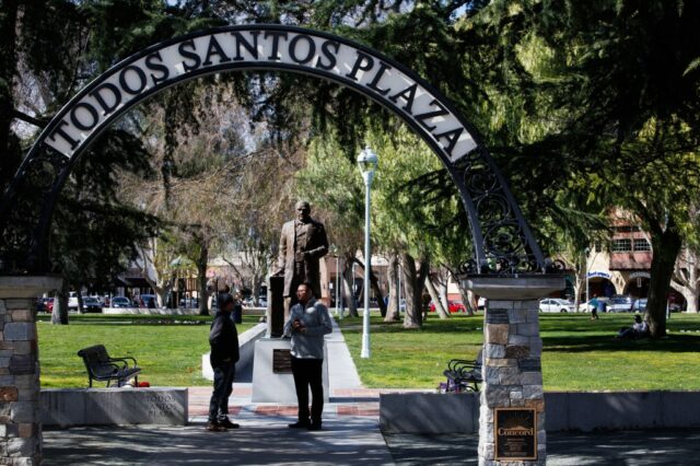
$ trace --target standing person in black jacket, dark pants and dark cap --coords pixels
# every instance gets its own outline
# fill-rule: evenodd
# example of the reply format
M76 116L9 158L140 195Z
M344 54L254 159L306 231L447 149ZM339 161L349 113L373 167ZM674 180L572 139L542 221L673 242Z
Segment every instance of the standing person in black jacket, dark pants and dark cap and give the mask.
M238 428L238 424L229 420L229 397L233 392L233 376L238 361L238 333L231 318L233 296L222 293L218 302L219 311L209 331L209 360L214 372L214 391L209 403L207 430L212 432Z

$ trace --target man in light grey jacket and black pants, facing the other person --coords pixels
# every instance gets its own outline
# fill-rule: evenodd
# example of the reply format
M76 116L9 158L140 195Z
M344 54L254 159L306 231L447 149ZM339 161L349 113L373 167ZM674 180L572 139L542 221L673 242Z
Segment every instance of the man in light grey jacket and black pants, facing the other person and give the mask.
M292 341L292 375L296 391L298 421L292 429L320 430L324 410L324 335L332 331L328 308L314 299L311 283L296 288L298 303L290 310L284 323L284 336ZM311 387L311 420L308 412L308 388Z

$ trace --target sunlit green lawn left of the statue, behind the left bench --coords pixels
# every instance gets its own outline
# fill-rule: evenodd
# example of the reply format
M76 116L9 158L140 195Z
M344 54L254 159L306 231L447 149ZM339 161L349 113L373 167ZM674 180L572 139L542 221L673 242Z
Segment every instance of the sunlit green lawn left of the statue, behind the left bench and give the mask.
M42 387L85 387L88 376L78 350L103 343L109 354L131 356L143 368L139 378L153 386L196 386L201 356L209 351L210 316L71 315L70 325L51 325L37 317ZM238 334L258 316L244 316Z

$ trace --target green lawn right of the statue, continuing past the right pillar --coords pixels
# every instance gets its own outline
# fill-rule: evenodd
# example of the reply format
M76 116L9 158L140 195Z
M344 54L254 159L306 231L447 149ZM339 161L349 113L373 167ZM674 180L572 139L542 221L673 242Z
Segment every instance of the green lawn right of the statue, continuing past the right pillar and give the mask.
M617 340L630 314L540 314L546 391L700 389L700 315L674 314L668 338ZM422 329L372 317L371 359L361 359L360 318L341 322L368 387L434 388L450 359L474 359L483 339L482 314L431 316Z

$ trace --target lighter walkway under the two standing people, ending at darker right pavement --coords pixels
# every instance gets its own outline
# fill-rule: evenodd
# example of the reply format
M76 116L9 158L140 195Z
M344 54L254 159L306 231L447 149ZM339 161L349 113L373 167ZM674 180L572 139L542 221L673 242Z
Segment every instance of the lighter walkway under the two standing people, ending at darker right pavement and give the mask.
M288 429L296 406L250 403L252 368L245 368L230 400L238 430L207 432L211 387L191 387L188 426L45 430L45 464L394 464L378 429L381 391L362 387L335 322L327 341L332 363L323 431Z

